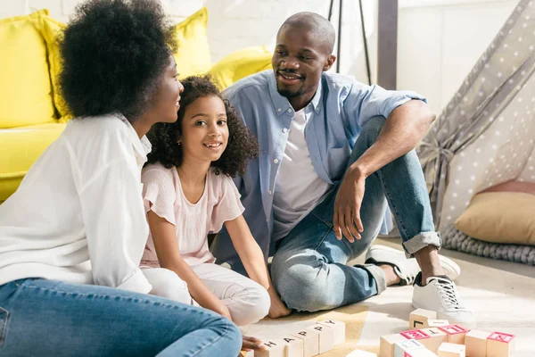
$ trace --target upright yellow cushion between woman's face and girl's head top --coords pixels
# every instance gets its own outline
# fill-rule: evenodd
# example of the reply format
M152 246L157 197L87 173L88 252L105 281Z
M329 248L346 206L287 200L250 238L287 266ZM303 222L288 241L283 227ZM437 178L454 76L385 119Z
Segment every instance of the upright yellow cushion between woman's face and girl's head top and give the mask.
M175 61L177 61L177 70L181 78L210 70L207 25L208 10L203 7L173 28L178 42Z

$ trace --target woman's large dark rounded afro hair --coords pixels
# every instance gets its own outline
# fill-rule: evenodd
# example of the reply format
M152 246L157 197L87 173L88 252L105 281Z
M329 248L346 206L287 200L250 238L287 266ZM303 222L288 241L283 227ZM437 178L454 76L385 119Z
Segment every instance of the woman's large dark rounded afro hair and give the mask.
M89 0L62 37L61 93L75 117L149 107L177 43L158 0Z

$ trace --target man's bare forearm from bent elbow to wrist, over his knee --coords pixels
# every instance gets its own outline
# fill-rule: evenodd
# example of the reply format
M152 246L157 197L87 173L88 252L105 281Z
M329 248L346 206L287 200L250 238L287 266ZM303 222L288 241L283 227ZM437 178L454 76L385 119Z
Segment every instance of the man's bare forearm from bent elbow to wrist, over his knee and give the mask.
M422 101L411 100L394 109L374 145L350 166L350 172L365 178L414 149L429 129L434 115Z

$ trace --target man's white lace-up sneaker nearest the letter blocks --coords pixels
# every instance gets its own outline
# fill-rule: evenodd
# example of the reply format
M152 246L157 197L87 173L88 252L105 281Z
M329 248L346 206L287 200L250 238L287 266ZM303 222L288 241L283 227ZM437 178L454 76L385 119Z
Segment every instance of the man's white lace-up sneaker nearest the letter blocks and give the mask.
M422 286L422 274L416 276L413 292L413 307L437 311L437 318L449 320L452 325L474 328L475 320L471 311L460 302L455 284L446 276L427 278Z

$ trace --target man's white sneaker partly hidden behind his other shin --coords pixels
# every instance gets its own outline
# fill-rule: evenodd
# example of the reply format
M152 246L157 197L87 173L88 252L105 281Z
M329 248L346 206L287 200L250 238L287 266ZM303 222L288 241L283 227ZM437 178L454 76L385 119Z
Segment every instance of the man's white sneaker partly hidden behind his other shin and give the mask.
M440 265L444 270L444 273L451 280L455 280L461 274L461 268L457 265L457 262L453 262L451 259L439 255ZM374 264L390 264L394 267L394 271L401 278L401 285L410 285L414 282L416 274L420 272L418 263L415 258L407 259L405 252L399 251L398 249L391 248L386 245L372 245L366 253L366 263ZM398 270L396 270L398 268ZM402 270L402 271L399 271ZM399 272L402 276L399 274Z

